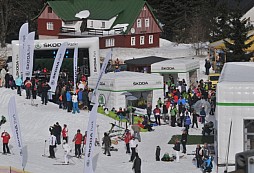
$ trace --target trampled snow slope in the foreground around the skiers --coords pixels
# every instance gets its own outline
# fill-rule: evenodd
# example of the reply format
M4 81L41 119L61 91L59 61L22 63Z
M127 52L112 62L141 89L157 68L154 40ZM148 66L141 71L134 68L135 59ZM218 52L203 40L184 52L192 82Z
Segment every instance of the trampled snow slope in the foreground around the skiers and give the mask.
M84 167L84 159L73 158L70 162L74 165L59 166L53 165L57 162L64 161L63 149L60 146L57 147L56 157L57 160L42 157L44 154L45 140L49 137L49 126L56 122L60 125L67 124L69 127L70 140L74 137L77 129L81 129L81 132L87 129L88 112L81 111L80 114L67 113L64 110L60 110L57 105L49 103L48 105L42 105L40 99L35 100L38 107L31 106L30 100L25 99L25 93L22 96L17 96L15 90L0 89L0 110L2 115L8 115L8 101L9 98L15 95L17 102L17 110L20 117L20 125L22 130L23 145L27 148L27 164L26 170L32 173L63 173L63 172L82 172ZM7 116L8 121L8 116ZM100 138L103 133L108 131L111 127L110 123L114 121L104 115L98 116L99 135ZM0 132L10 132L12 136L9 122L2 125ZM138 152L142 159L142 172L144 173L168 173L168 172L201 172L192 163L193 155L186 155L180 159L180 163L176 162L156 162L155 161L155 149L159 145L161 147L161 153L168 152L173 154L173 145L167 144L172 135L181 134L182 128L172 128L168 125L162 125L155 127L153 132L144 132L141 134L142 141L139 143ZM200 134L201 129L191 129L190 134ZM72 148L74 144L70 143ZM13 166L21 168L20 159L15 147L15 141L12 138L10 140L11 152L14 155L0 155L0 166ZM119 142L114 147L118 148L118 151L112 151L111 157L103 154L101 147L95 147L94 154L94 167L95 173L130 173L132 163L128 162L130 155L125 154L124 142ZM187 153L192 153L195 150L195 146L187 146ZM46 143L45 152L48 155L48 143ZM162 155L161 154L161 155ZM73 154L74 155L74 154Z

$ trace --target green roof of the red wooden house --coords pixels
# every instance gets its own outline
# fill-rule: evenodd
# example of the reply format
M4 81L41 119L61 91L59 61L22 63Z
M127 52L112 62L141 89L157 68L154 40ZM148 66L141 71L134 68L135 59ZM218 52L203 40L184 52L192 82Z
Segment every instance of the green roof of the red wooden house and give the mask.
M83 10L88 10L90 12L88 19L91 20L109 20L116 17L110 29L117 24L128 24L125 33L130 30L142 8L147 5L160 27L153 14L153 10L144 0L58 0L48 1L43 10L47 5L49 5L54 13L63 21L80 20L75 17L75 14Z

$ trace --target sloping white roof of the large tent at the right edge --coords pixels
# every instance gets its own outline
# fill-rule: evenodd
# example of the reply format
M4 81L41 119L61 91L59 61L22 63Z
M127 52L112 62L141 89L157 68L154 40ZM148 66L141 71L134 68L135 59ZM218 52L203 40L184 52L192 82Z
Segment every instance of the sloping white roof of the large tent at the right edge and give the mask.
M254 62L225 63L219 83L221 82L254 82Z

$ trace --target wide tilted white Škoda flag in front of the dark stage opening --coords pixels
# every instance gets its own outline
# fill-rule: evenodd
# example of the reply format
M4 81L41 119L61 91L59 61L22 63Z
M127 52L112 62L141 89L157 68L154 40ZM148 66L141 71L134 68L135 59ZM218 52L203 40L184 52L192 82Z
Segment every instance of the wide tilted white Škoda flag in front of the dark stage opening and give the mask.
M56 91L59 72L60 72L60 68L62 66L62 62L63 62L63 58L65 55L67 45L68 45L67 42L62 43L62 45L59 47L57 54L56 54L56 58L55 58L55 61L54 61L53 67L52 67L50 80L49 80L49 85L51 87L50 91L52 91L52 92Z

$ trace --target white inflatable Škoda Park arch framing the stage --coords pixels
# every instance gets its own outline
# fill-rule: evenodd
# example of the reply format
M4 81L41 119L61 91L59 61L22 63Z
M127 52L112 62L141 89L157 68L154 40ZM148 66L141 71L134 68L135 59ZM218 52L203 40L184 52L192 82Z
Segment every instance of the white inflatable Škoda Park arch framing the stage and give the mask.
M48 39L48 40L35 40L34 50L52 50L59 48L63 42L68 42L69 48L75 48L78 44L79 48L89 49L89 62L90 74L95 75L100 71L99 60L99 38L74 38L74 39ZM20 75L19 67L19 41L12 41L12 64L13 64L13 78L16 79Z

